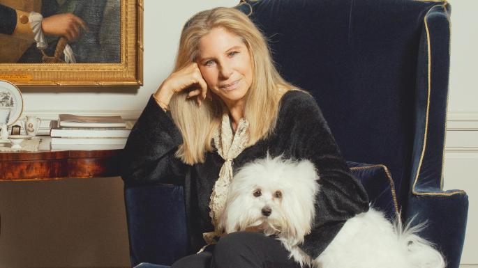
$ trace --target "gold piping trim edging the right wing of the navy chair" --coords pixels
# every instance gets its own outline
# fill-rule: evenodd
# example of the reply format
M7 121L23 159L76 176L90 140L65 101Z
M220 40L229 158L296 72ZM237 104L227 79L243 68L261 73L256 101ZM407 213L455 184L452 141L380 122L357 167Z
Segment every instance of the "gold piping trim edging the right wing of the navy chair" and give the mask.
M437 5L437 6L442 6L444 9L445 9L445 12L447 12L447 9L445 8L445 6L447 5L447 2L445 1L443 5ZM423 158L424 158L424 155L425 155L425 151L426 151L426 138L427 138L427 134L428 134L428 116L429 116L429 112L430 112L430 95L431 95L431 44L430 44L430 31L428 29L428 22L426 22L426 19L428 17L428 14L431 12L431 10L433 10L433 8L435 8L435 6L432 6L430 8L430 10L428 10L428 12L426 13L425 17L424 17L424 24L425 24L425 31L426 31L426 42L427 42L427 52L428 52L428 96L427 96L427 100L426 100L426 118L425 118L425 133L424 133L424 144L423 144L423 148L421 149L421 156L420 156L420 161L419 161L419 164L418 164L418 168L417 168L417 175L415 176L415 179L414 179L414 182L413 182L413 186L412 186L412 194L416 195L416 196L453 196L455 194L465 194L465 191L462 191L462 190L457 190L457 191L450 191L449 193L433 193L433 192L420 192L420 191L415 191L415 187L417 185L417 181L418 181L418 178L419 178L419 175L420 175L420 171L421 171L421 163L423 161ZM448 14L448 12L447 12ZM447 16L449 17L449 16ZM446 121L445 121L445 127L446 127ZM446 133L446 129L445 129L445 133ZM445 151L445 150L444 150ZM443 159L442 159L442 163L443 163ZM442 166L443 168L443 166ZM442 184L443 184L443 175L440 175L440 188L442 187Z

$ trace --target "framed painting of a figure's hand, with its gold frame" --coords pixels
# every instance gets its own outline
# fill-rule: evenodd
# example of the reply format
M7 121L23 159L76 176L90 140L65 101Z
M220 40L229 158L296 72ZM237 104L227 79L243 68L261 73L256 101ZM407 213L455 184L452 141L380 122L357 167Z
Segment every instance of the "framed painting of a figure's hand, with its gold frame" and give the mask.
M142 85L142 32L142 0L0 0L0 79Z

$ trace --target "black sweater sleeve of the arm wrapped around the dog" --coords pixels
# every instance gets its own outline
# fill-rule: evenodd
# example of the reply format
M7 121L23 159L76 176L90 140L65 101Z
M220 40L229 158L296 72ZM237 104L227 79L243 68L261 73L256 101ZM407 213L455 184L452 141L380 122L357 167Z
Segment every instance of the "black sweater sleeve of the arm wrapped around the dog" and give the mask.
M368 211L368 196L350 172L313 97L293 92L282 105L284 124L293 126L289 132L292 155L312 161L320 176L313 228L300 246L317 258L347 219Z

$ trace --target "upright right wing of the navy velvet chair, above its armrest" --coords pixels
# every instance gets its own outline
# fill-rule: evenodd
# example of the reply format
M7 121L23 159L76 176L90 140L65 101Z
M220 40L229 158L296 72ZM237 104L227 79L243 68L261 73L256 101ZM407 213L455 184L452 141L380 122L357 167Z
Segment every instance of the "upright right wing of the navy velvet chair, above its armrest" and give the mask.
M410 191L411 188L414 194L433 192L441 189L443 184L442 167L450 59L450 10L449 3L437 3L424 15L417 54L414 145L408 189ZM406 196L407 193L403 193L403 197Z

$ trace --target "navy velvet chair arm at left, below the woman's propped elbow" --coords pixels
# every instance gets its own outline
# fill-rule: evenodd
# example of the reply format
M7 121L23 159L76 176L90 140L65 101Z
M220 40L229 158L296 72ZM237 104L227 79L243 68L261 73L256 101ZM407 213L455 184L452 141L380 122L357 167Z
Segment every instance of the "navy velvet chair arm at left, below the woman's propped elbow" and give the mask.
M171 265L188 252L184 190L177 185L124 188L130 261Z

